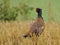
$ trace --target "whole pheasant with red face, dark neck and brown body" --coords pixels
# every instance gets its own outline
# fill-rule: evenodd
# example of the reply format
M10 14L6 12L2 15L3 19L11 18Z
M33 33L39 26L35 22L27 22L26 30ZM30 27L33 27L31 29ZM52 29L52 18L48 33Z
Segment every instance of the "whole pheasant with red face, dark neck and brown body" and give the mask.
M25 38L32 37L33 34L35 34L36 36L39 36L41 35L41 33L43 32L45 28L45 23L42 17L42 9L36 8L36 12L38 14L36 21L31 25L29 32L24 35Z

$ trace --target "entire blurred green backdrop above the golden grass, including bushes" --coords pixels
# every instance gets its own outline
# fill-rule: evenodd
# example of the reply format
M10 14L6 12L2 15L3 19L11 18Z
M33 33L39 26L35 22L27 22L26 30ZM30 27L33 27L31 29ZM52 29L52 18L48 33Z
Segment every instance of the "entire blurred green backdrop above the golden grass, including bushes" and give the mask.
M35 9L42 8L46 22L60 22L60 0L0 0L0 20L35 20Z

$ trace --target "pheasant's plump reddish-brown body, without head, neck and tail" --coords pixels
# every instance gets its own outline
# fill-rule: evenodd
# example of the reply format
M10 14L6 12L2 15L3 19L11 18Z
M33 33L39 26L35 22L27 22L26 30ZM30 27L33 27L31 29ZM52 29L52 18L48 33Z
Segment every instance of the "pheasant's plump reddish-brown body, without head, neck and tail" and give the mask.
M39 35L42 33L42 31L44 30L44 21L41 18L38 18L36 22L34 22L31 25L30 28L30 33L32 33L32 35L35 33L36 35Z

